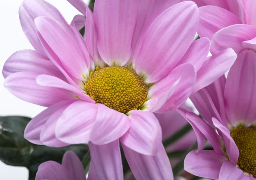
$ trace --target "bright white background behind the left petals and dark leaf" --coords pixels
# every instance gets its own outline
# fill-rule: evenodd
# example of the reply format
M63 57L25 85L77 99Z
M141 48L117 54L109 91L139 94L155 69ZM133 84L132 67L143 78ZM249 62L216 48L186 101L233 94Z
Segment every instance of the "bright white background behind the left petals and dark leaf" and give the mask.
M81 14L67 0L46 0L70 23L76 14ZM12 53L22 49L33 49L20 27L18 10L23 0L0 0L0 72L4 62ZM88 3L89 0L84 0ZM3 86L4 78L0 73L0 116L24 115L33 117L44 107L22 101ZM28 180L26 168L7 166L0 161L0 180Z

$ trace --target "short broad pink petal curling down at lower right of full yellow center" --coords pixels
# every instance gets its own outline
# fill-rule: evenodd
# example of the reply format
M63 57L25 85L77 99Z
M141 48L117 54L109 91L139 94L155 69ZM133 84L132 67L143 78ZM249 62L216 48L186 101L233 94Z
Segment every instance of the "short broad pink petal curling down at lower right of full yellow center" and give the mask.
M162 131L157 118L148 111L129 112L131 127L120 139L121 142L144 155L156 155L162 143Z

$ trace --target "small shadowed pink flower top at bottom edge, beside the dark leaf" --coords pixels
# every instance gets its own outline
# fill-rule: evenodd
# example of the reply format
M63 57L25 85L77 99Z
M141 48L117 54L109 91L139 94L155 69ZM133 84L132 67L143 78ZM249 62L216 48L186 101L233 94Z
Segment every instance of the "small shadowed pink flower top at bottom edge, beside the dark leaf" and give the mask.
M35 180L86 180L86 177L79 158L74 152L67 151L63 156L62 164L55 161L42 163L38 167Z

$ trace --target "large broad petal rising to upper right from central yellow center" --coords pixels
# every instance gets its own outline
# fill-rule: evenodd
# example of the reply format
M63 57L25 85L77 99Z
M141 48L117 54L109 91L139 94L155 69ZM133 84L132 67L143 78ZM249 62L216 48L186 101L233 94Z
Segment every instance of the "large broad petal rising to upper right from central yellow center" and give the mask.
M133 59L134 69L141 76L145 74L145 82L156 82L172 71L194 39L198 19L197 6L186 1L168 8L154 20Z

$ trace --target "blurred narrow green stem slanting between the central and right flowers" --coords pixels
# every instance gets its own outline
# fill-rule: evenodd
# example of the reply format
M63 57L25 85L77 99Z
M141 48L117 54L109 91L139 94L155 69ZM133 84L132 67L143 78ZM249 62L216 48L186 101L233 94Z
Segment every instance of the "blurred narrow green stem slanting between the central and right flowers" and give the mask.
M177 140L182 138L186 133L192 130L192 127L190 124L186 124L184 127L182 127L179 131L177 131L175 134L167 138L166 140L163 141L163 146L167 147L170 146L171 144L175 143Z

